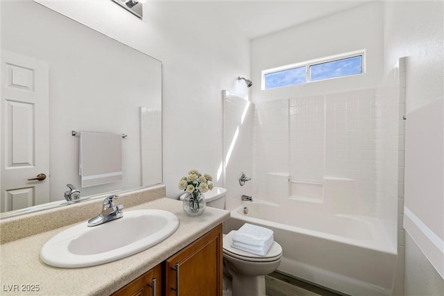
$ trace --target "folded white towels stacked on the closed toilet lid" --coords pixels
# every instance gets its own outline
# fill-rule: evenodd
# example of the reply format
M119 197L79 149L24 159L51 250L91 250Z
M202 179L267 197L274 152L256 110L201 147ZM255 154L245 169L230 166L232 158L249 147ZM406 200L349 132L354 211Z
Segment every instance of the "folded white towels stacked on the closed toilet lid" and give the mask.
M273 230L249 223L245 223L232 236L233 241L258 247L264 247L270 238L273 238Z

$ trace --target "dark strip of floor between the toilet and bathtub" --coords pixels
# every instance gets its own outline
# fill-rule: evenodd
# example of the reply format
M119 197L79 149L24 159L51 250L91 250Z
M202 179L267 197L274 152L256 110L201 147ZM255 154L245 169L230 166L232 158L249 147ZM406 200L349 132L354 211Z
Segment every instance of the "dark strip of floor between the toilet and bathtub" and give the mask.
M309 284L282 272L265 276L267 296L346 296L325 287Z

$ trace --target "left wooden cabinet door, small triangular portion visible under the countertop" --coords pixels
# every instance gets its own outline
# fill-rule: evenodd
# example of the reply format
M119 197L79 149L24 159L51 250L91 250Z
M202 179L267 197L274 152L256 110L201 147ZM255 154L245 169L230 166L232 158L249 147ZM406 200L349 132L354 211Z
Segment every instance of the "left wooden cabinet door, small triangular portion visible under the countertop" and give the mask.
M148 270L112 296L162 296L162 264Z

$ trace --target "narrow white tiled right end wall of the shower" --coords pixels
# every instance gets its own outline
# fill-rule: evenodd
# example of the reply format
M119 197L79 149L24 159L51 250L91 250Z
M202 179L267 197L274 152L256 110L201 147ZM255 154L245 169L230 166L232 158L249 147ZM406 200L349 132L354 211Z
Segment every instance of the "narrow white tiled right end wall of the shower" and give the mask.
M397 227L391 236L398 236L399 246L404 247L404 155L405 155L405 58L400 58L388 77L386 87L379 89L384 101L379 108L384 116L379 121L377 157L381 159L378 169L377 212L384 220ZM395 208L398 214L393 220ZM403 250L402 250L403 251Z

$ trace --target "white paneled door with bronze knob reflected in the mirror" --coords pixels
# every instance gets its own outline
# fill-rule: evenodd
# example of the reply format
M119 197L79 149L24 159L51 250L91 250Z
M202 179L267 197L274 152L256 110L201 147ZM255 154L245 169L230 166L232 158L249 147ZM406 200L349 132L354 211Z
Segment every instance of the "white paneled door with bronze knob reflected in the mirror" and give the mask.
M0 212L49 202L46 62L1 50L0 116Z

